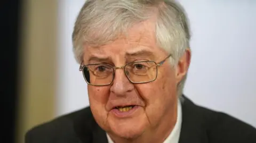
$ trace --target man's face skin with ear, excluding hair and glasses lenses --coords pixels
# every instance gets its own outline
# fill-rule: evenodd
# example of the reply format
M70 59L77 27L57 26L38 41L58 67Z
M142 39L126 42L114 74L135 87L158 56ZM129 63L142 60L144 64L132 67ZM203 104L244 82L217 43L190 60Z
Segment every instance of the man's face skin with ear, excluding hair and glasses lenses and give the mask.
M120 67L145 60L161 62L169 53L157 47L155 33L150 30L154 27L152 23L136 24L128 36L107 45L85 47L84 64L107 63ZM158 66L157 78L153 82L132 83L124 69L116 69L111 85L88 85L93 116L111 137L133 139L152 132L155 134L156 131L164 131L166 121L176 121L177 84L186 74L189 62L185 57L186 65L181 60L173 69L168 60ZM116 108L120 106L131 107L120 111Z

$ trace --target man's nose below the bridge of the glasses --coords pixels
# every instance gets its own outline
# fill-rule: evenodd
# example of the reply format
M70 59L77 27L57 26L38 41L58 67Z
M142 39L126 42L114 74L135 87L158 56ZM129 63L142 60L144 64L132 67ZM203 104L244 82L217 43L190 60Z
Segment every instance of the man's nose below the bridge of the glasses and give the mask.
M127 92L134 89L133 84L127 79L124 69L116 69L115 78L112 82L110 91L117 96L124 96Z

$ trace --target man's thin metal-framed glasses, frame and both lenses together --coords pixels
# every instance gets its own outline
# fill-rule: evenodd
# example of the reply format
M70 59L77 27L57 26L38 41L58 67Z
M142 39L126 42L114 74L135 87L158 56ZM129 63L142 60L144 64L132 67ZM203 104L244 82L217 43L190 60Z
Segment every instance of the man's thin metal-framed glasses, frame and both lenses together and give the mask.
M171 55L167 56L159 63L154 61L130 62L120 67L105 63L82 66L82 62L79 71L83 72L87 84L92 86L110 85L115 78L115 71L117 69L124 69L127 79L132 83L147 83L156 80L157 67L161 66L169 57L171 57Z

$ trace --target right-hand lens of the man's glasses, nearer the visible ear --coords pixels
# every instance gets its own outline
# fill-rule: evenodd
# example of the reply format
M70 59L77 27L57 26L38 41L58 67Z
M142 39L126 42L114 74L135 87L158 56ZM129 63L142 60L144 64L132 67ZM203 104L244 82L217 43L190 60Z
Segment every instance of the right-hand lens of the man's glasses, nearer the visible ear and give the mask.
M134 83L149 82L156 79L157 67L155 62L134 62L125 66L127 78Z

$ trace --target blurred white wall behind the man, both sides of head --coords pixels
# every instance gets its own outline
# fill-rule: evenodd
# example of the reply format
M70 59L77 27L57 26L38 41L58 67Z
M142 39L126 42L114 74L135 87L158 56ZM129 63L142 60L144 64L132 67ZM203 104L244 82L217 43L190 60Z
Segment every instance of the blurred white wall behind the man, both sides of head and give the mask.
M89 105L71 33L84 0L59 1L57 116ZM185 95L256 127L256 1L180 0L190 19L192 60Z

